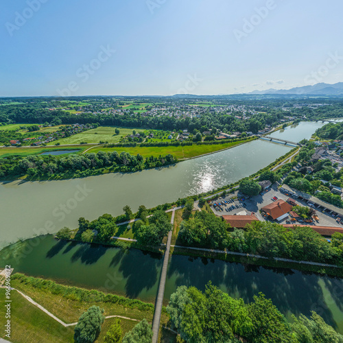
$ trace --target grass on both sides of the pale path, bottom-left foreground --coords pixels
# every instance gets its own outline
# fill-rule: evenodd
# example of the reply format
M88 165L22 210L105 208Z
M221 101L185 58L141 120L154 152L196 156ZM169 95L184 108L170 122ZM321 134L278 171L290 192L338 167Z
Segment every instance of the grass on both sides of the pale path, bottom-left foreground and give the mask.
M146 318L148 322L152 322L153 311L141 311L137 308L125 307L117 303L98 303L95 301L86 302L81 300L71 300L65 298L60 294L53 294L49 289L40 289L21 283L19 280L12 280L11 286L19 289L23 294L32 298L36 303L45 307L51 314L66 323L77 322L81 314L92 305L99 306L105 309L105 316L125 316L128 318L142 320ZM0 289L0 300L5 303L5 289ZM32 305L21 294L12 290L11 292L11 342L18 343L64 343L74 342L73 333L74 327L63 327L62 324L56 322L53 318L49 317L38 307ZM5 307L2 306L0 310L1 324L5 324ZM95 342L104 342L106 332L113 324L114 318L108 318L102 324L102 331L95 340ZM168 317L163 313L161 318L161 325L166 325ZM130 331L137 322L133 320L120 319L121 329L123 334ZM4 330L1 332L1 338L5 338ZM168 340L161 340L161 342L176 342L174 335L168 335L163 331L162 337Z

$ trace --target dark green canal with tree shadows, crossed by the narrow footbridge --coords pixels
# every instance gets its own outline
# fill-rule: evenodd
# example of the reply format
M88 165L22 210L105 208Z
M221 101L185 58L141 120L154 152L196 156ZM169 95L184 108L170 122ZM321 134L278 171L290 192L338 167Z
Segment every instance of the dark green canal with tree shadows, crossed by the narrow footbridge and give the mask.
M162 255L137 249L56 241L52 235L17 242L1 250L0 265L66 285L99 289L154 303ZM180 285L204 290L206 283L246 302L262 292L290 318L316 311L343 333L343 281L283 268L243 265L173 255L165 286L165 305Z

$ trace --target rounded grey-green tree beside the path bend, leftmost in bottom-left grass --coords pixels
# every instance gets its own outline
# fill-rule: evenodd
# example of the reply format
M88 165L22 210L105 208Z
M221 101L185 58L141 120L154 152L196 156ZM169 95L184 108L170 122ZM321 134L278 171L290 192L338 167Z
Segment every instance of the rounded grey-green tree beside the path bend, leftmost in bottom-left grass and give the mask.
M76 324L74 340L78 343L92 343L102 330L104 322L104 309L97 306L89 307Z

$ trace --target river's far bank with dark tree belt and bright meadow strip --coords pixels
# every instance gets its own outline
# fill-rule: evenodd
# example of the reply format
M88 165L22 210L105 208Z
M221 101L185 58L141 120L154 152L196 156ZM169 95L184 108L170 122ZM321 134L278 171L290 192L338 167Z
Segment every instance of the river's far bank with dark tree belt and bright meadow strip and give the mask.
M35 165L34 160L30 161L16 161L10 160L7 164L2 163L0 160L0 181L45 181L45 180L68 180L73 178L84 178L88 176L99 176L103 174L113 173L132 173L136 171L143 171L147 169L154 169L159 167L167 167L178 163L178 156L182 156L181 161L186 161L191 158L198 158L213 154L215 152L222 152L232 147L237 147L244 143L254 141L257 137L250 137L240 141L226 142L223 144L196 144L193 145L179 145L167 147L96 147L93 152L95 157L89 154L88 150L83 147L80 150L80 158L73 158L73 156L54 156L54 158L47 158L45 168L41 168L41 161L37 161ZM14 149L14 148L13 148ZM53 150L41 151L49 152ZM56 150L54 150L56 151ZM67 151L67 150L66 150ZM87 154L83 152L87 151ZM113 157L113 153L117 152L117 156ZM125 157L119 156L126 152L128 155ZM106 154L107 158L104 158ZM132 155L131 155L132 154ZM133 155L136 154L136 155ZM89 157L88 156L92 156ZM186 157L185 157L186 156ZM64 158L63 163L60 158ZM69 158L69 162L65 161ZM113 159L115 161L113 161ZM134 161L132 161L134 159ZM7 162L7 161L6 161ZM8 167L10 164L10 167ZM16 174L14 173L16 170ZM18 174L21 171L21 174Z

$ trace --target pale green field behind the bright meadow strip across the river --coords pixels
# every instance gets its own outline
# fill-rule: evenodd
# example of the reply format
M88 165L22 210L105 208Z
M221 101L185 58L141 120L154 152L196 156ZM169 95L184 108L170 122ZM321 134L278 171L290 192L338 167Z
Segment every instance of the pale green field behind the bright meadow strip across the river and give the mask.
M99 126L99 128L74 134L71 137L58 139L58 141L50 142L48 145L55 145L56 143L60 143L61 145L80 144L81 142L99 143L99 141L118 143L121 137L132 134L132 130L136 130L137 132L141 131L139 128L118 128L120 133L115 134L115 129L116 128L114 126Z

